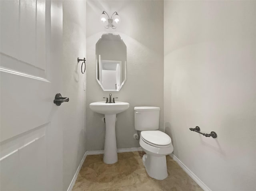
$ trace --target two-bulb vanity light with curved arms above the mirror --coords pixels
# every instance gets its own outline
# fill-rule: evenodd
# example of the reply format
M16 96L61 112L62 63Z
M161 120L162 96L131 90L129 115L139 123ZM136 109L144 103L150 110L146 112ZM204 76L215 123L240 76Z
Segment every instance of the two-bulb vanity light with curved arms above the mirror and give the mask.
M103 11L100 16L100 21L102 22L103 26L108 29L116 29L116 26L120 23L120 16L117 12L114 12L111 17L108 16L106 11Z

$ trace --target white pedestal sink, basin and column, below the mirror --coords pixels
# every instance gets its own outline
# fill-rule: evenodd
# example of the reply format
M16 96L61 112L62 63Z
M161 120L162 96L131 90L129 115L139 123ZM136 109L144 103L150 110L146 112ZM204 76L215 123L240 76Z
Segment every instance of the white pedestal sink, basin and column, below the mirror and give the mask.
M127 110L129 106L130 104L127 102L106 103L102 101L90 103L91 110L105 115L106 134L103 161L106 164L113 164L118 160L115 129L116 114Z

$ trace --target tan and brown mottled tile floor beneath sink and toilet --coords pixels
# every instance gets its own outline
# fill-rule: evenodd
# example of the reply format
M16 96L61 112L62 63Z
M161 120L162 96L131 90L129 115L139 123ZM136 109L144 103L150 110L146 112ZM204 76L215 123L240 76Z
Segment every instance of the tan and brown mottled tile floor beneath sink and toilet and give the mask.
M166 157L168 177L152 179L142 163L144 152L118 153L118 162L108 165L103 155L89 155L72 191L203 191L172 159Z

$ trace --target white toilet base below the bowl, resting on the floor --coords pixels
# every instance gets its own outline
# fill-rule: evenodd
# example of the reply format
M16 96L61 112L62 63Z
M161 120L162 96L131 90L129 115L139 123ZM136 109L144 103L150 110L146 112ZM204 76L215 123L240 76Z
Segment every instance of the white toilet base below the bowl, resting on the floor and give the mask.
M153 156L150 154L144 154L142 161L150 177L157 180L163 180L168 177L165 155Z

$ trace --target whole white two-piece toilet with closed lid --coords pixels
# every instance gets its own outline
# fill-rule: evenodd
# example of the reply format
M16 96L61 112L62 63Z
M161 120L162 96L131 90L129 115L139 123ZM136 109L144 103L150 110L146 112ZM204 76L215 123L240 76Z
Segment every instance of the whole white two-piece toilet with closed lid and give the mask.
M172 153L173 146L170 136L158 130L159 116L159 107L134 107L134 126L140 131L140 146L146 152L142 161L150 177L163 180L168 176L166 155Z

